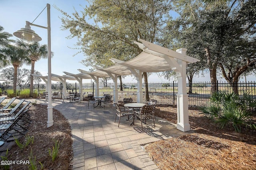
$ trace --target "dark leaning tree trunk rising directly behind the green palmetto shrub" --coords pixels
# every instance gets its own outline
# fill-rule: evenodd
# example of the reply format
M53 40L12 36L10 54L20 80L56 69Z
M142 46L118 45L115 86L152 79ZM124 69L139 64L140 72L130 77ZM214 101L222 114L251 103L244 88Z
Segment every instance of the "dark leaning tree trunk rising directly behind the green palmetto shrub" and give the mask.
M207 64L210 71L211 93L213 93L217 91L217 76L216 76L217 64L215 62L212 62L210 49L206 47L204 48L204 50L206 52Z

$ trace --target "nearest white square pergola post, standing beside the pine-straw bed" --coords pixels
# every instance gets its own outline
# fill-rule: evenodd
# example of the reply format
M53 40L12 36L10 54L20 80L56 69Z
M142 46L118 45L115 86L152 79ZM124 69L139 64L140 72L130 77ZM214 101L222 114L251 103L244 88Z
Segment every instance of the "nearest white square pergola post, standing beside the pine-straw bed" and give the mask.
M178 53L186 55L187 49L181 48L176 50ZM190 131L188 121L188 94L186 90L186 61L178 59L178 64L181 67L179 72L176 72L178 78L178 94L177 95L177 129L186 132Z

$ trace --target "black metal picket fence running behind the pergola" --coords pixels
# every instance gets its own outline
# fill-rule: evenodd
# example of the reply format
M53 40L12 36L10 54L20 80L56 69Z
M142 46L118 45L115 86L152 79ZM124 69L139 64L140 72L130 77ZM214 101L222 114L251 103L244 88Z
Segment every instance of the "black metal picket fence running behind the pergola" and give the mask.
M211 95L210 82L193 82L188 95L189 106L201 106L206 104L210 100ZM256 100L256 82L238 82L237 83L238 94L242 95L243 92L248 92L252 98ZM0 86L1 87L1 86ZM12 88L12 86L8 86ZM20 87L29 88L29 87ZM62 91L63 84L56 83L52 84L52 91L58 92ZM67 92L78 92L79 83L66 83ZM113 95L114 83L99 84L99 95L110 94ZM18 89L18 88L17 88ZM146 102L145 84L142 84L143 90L143 101ZM232 92L233 86L227 82L218 82L216 84L216 89L221 91ZM35 84L34 90L45 91L46 84ZM82 84L82 94L92 94L95 92L95 83L83 83ZM177 104L176 94L178 92L177 82L150 82L148 83L148 92L150 99L156 99L158 104ZM187 92L189 92L189 85L187 84ZM122 89L120 84L118 84L118 100L122 101L123 98L132 98L135 102L137 100L137 83L123 83Z

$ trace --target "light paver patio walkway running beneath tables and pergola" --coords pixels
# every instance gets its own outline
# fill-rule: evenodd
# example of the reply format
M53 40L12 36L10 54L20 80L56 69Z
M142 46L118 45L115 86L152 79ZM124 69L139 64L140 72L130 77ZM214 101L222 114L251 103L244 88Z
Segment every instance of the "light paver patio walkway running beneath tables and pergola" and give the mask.
M46 101L37 100L38 104L47 105ZM135 119L135 124L127 117L121 117L120 126L115 121L116 109L110 106L104 108L88 106L88 102L72 102L54 100L52 105L68 119L73 138L73 169L111 169L137 170L158 169L148 157L143 146L154 141L186 135L176 129L174 123L156 117L153 121L143 124Z

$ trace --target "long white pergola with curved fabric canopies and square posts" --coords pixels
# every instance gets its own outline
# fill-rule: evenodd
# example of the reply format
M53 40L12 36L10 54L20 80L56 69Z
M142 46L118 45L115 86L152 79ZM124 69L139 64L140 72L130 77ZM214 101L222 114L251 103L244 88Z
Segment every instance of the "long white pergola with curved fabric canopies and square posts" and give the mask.
M78 69L80 71L79 74L72 74L68 72L64 73L66 76L75 78L81 84L79 89L80 93L82 93L82 79L93 79L96 82L96 96L99 95L99 78L112 78L114 82L114 102L118 102L117 76L134 75L138 83L137 102L142 103L142 72L174 70L178 78L178 93L176 94L178 115L177 129L184 132L189 131L190 125L188 121L188 94L186 92L186 64L196 63L199 60L187 56L187 49L184 48L173 51L143 39L138 39L138 41L139 42L134 41L134 43L143 51L129 61L120 61L118 59L111 58L110 60L114 65L107 68L94 66L94 68L97 69L94 72ZM55 76L55 78L57 78L57 76ZM60 79L60 77L58 78ZM70 77L66 79L71 80L69 78Z

